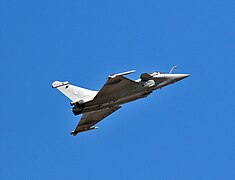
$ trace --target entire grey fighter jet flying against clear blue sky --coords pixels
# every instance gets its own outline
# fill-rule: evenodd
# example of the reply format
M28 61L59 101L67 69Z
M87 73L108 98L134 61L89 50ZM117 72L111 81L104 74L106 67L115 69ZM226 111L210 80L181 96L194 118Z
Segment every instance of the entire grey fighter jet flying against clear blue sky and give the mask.
M80 122L70 134L76 136L80 132L97 129L95 124L120 109L125 103L145 98L153 91L173 84L189 76L189 74L173 74L174 66L169 73L143 73L137 80L131 80L125 75L135 70L112 74L100 91L92 91L69 84L55 81L52 88L61 91L72 100L70 103L75 116L83 114Z

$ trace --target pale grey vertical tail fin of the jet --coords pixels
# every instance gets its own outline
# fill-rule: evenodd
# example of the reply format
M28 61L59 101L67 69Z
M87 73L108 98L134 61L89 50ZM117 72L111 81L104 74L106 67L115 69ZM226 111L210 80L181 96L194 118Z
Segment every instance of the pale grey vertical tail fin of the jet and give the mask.
M69 82L67 81L66 82L54 81L52 83L52 88L58 89L73 102L78 102L78 101L88 102L91 101L97 94L97 91L92 91L85 88L77 87L69 84Z

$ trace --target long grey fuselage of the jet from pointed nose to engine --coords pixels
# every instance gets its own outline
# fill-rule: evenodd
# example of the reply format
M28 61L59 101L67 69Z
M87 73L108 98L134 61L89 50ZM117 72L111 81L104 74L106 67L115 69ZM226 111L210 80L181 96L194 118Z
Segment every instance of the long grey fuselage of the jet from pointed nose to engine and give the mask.
M173 84L188 76L189 74L159 74L153 75L151 79L138 79L135 81L138 82L136 85L123 87L120 93L110 94L105 98L99 99L99 101L85 103L82 113L114 107L145 98L154 90Z

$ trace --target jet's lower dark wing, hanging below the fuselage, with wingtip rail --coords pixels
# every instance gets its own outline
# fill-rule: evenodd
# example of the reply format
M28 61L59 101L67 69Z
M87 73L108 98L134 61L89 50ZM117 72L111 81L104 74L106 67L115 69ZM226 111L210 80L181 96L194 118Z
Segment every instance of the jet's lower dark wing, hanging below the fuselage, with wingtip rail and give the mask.
M107 116L109 116L120 108L121 106L115 106L108 109L84 113L76 129L70 134L76 136L80 132L96 129L96 127L94 127L95 124L97 124L98 122L100 122L101 120L103 120L104 118L106 118Z

